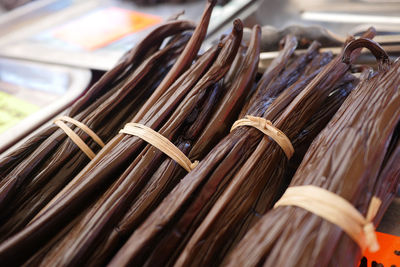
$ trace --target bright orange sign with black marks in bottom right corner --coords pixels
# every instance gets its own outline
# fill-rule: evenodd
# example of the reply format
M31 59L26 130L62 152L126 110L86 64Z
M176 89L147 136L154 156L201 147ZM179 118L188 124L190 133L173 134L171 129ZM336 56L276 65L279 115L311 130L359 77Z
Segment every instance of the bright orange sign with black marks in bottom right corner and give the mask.
M368 266L375 261L385 267L400 267L400 237L380 232L376 232L376 236L380 249L375 253L365 251L364 256L367 258Z

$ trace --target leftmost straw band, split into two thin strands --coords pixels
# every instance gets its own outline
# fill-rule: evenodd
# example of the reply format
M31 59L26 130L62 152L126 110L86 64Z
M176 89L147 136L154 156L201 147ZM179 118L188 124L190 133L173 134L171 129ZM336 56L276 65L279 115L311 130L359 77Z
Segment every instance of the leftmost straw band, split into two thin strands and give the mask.
M87 144L85 144L85 142L83 142L83 140L64 123L64 121L70 122L76 127L80 128L87 135L89 135L99 146L104 147L104 142L89 127L87 127L85 124L73 118L62 116L54 120L54 124L60 127L65 132L65 134L72 140L72 142L74 142L83 151L83 153L85 153L90 159L93 159L96 156L96 154L94 154L94 152L90 149L90 147Z

